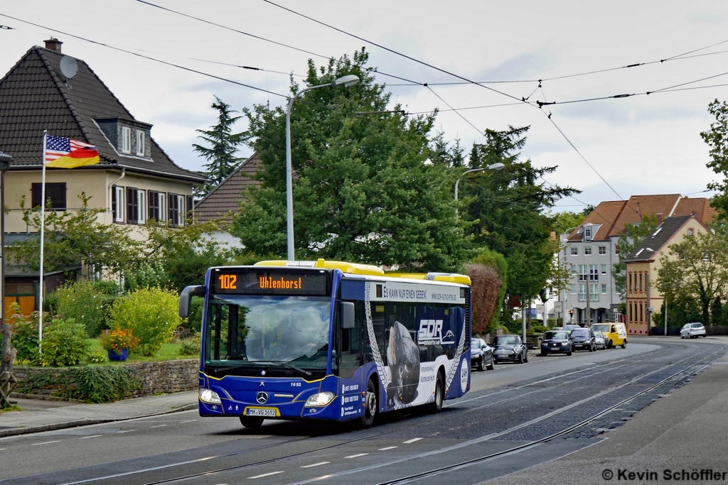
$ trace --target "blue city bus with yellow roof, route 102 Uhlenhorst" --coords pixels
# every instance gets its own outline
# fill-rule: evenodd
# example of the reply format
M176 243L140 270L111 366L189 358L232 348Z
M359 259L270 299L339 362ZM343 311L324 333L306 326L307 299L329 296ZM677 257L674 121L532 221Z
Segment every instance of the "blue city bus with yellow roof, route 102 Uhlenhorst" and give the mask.
M199 415L360 420L470 389L470 278L317 260L209 268Z

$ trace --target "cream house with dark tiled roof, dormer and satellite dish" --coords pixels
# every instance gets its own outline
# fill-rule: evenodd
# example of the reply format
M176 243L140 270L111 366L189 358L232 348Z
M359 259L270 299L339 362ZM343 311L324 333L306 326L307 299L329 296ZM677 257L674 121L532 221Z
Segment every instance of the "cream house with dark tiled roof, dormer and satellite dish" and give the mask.
M104 223L134 225L139 237L151 219L183 224L192 189L205 177L178 167L151 137L151 124L135 119L87 63L64 56L61 44L49 39L45 47L32 47L0 79L0 151L12 156L5 178L6 244L28 233L21 199L25 207L41 204L44 130L95 145L100 154L96 165L47 169L53 210L78 209L84 192L91 207L105 209ZM12 294L10 275L6 283Z

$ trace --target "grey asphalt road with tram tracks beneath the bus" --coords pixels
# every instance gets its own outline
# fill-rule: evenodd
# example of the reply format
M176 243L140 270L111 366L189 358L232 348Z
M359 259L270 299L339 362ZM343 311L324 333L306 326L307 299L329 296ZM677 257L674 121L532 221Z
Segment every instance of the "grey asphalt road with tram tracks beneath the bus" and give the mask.
M700 363L723 356L724 343L643 338L625 349L529 356L528 364L474 372L470 393L438 415L381 416L370 430L276 421L249 430L191 411L2 438L0 483L384 484L428 472L414 481L477 484L601 441ZM555 433L566 439L539 444Z

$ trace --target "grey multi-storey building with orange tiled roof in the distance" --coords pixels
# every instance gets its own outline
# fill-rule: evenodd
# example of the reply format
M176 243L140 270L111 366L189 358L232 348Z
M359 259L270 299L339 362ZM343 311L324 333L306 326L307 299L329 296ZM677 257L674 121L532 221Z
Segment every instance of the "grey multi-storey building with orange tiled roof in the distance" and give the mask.
M678 193L632 196L626 201L605 201L569 233L561 235L562 265L571 272L567 289L559 295L564 312L574 323L617 321L622 298L614 285L612 268L619 262L617 242L628 224L655 215L662 223L668 217L695 215L701 223L712 223L716 211L709 199L687 199ZM590 317L587 317L587 299ZM623 317L622 317L623 318Z

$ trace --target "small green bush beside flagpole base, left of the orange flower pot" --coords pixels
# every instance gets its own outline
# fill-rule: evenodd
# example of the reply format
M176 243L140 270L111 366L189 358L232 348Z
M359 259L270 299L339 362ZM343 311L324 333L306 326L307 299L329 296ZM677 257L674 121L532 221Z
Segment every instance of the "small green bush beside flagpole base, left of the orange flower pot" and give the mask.
M63 320L53 318L51 324L44 328L43 352L41 364L43 366L75 366L85 361L90 352L89 342L86 340L86 329L82 324L76 324L73 318Z

